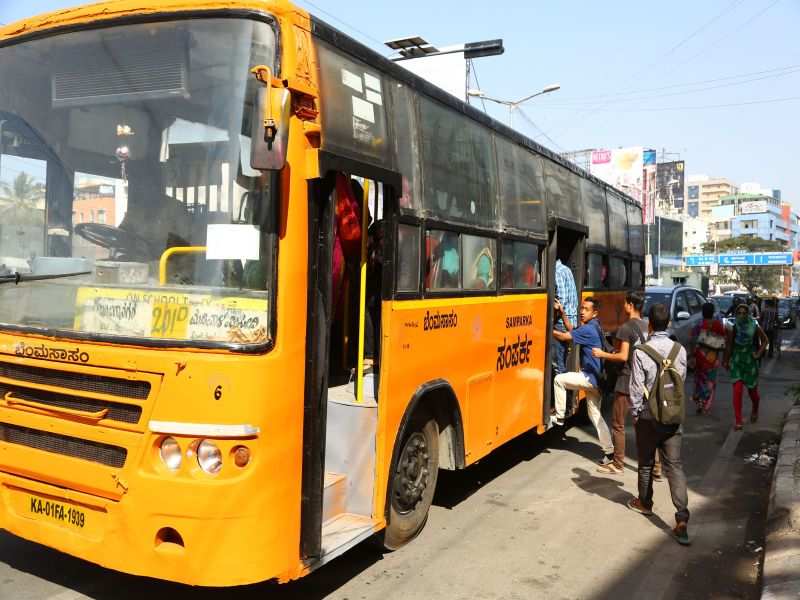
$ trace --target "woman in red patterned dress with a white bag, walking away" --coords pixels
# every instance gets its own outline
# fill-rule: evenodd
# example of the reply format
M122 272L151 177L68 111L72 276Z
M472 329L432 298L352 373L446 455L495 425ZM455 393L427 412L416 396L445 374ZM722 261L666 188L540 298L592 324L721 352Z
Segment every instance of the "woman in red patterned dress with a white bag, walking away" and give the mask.
M714 402L717 387L717 369L725 349L725 326L714 318L714 305L703 304L703 320L695 325L692 338L694 348L694 403L697 414L707 415Z

